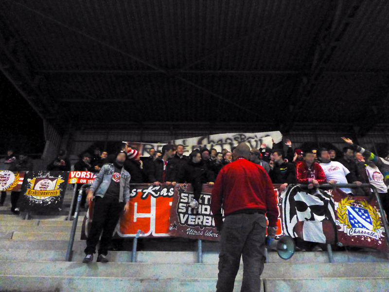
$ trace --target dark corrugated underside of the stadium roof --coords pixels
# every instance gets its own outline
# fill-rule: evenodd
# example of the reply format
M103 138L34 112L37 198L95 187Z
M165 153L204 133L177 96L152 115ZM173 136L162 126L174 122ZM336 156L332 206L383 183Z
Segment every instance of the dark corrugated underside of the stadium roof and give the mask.
M2 0L0 66L68 125L389 123L389 2Z

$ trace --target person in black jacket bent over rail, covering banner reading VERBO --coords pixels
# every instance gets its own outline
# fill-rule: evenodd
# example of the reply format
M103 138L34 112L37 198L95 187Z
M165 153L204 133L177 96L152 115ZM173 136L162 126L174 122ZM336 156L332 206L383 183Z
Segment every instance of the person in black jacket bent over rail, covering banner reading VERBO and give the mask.
M190 208L197 209L201 197L203 183L213 184L215 181L213 172L202 161L200 151L195 150L189 155L189 161L183 164L177 174L178 183L191 183L194 200L189 203Z

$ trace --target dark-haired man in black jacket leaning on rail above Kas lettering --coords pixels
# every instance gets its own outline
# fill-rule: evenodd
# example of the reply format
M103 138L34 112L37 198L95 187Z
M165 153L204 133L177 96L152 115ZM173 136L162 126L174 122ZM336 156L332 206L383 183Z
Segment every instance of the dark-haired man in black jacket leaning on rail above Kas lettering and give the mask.
M159 185L159 183L176 184L173 157L176 155L175 145L165 145L162 147L162 156L150 164L149 182Z

